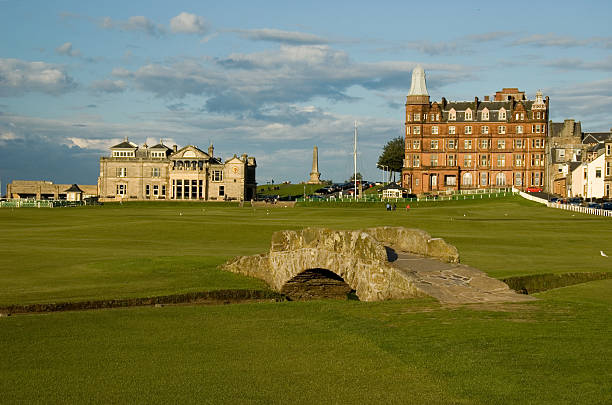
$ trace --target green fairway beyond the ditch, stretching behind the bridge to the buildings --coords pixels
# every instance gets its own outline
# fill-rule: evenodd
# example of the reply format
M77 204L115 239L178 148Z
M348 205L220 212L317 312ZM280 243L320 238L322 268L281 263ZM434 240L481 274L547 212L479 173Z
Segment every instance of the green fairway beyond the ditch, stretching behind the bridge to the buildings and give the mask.
M428 202L412 209L240 208L128 203L0 209L0 305L265 288L217 269L262 253L281 229L421 228L494 277L611 271L612 221L519 197Z

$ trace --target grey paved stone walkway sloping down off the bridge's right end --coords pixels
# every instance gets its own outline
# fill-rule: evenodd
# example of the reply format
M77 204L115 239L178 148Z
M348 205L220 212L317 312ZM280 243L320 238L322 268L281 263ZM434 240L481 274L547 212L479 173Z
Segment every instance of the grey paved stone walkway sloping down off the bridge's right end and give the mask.
M406 252L388 250L389 261L398 270L414 277L419 289L442 303L525 302L534 297L518 294L505 283L463 264Z

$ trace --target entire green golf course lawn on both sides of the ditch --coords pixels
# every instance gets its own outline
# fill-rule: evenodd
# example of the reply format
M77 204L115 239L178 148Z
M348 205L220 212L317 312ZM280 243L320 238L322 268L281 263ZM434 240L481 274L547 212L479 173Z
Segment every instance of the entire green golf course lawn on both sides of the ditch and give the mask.
M422 228L496 277L611 271L612 222L517 197L384 208L0 209L0 304L265 288L280 229ZM312 301L0 318L0 403L610 403L612 280L529 304Z

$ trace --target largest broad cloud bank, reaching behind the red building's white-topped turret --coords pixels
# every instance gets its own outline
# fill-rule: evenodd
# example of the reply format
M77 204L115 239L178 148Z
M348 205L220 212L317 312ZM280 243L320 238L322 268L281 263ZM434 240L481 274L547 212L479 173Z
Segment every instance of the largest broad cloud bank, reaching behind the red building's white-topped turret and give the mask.
M353 86L406 91L415 65L406 61L358 63L346 52L327 45L281 45L277 50L231 54L223 59L151 63L134 71L117 68L113 74L130 87L159 97L202 96L209 112L297 124L318 119L319 115L283 104L316 97L355 100L349 95ZM465 80L474 71L459 65L430 64L426 68L432 72L428 83L431 88Z

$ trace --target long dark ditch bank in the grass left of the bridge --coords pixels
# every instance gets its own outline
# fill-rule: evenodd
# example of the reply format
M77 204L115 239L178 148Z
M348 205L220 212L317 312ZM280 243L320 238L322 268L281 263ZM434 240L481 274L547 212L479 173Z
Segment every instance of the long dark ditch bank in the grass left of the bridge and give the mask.
M274 291L266 290L216 290L145 298L124 298L114 300L8 305L0 307L0 313L23 314L39 312L79 311L88 309L120 308L158 304L185 304L196 302L229 304L249 300L284 301L285 297L284 295L276 293Z

